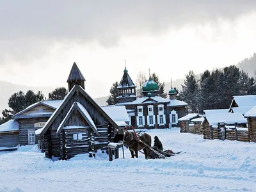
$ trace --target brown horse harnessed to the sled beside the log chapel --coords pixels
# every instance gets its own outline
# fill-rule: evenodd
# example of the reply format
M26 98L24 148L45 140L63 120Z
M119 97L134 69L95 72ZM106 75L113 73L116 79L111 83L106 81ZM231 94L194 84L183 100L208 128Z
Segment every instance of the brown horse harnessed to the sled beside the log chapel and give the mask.
M135 152L135 157L138 158L138 150L143 149L145 158L149 159L150 148L146 147L143 143L140 142L140 140L145 142L147 145L151 147L151 136L149 134L143 133L143 134L140 134L138 138L136 138L134 132L129 132L129 131L124 132L123 143L127 148L129 147L132 158L134 158L134 152Z

